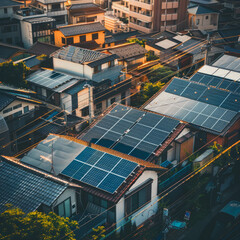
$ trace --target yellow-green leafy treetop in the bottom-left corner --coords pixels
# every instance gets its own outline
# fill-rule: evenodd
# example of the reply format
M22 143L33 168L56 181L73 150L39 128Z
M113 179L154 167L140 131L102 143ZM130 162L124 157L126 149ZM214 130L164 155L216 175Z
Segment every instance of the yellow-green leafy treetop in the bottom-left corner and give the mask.
M57 240L64 237L74 240L78 223L56 215L41 212L25 214L21 209L8 205L0 214L0 239L4 240Z

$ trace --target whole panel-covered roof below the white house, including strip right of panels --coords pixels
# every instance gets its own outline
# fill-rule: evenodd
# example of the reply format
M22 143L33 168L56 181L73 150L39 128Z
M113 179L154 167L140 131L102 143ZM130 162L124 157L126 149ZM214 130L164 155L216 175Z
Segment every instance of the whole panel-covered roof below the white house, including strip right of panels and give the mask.
M55 92L63 92L81 80L83 79L48 69L38 70L27 78L28 82L52 89Z

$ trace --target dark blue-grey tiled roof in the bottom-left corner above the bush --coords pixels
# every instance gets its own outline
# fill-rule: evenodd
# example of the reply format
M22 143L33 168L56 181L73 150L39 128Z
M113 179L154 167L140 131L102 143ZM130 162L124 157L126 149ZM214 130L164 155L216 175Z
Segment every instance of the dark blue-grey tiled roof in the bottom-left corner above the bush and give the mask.
M51 206L67 188L23 166L0 163L0 212L6 204L21 208L25 213L35 211L41 204Z

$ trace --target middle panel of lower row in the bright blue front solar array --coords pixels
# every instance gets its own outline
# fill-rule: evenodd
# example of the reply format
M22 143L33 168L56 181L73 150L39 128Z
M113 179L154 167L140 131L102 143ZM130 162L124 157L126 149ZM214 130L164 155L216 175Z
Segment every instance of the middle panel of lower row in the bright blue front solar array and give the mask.
M97 186L108 173L106 171L92 167L91 170L81 179L82 182Z

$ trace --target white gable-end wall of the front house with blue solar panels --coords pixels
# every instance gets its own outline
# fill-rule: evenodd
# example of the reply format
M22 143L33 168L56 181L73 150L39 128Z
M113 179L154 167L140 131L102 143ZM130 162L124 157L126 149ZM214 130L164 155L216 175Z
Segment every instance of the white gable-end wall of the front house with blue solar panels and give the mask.
M152 191L151 191L151 202L144 205L140 210L138 210L137 212L135 212L131 215L131 217L134 218L134 219L132 219L132 223L136 223L137 226L139 226L140 224L145 222L148 218L150 218L157 212L157 209L158 209L157 203L153 204L153 206L149 207L152 203L154 203L158 199L158 196L157 196L158 175L157 175L157 173L154 171L144 171L143 174L138 178L138 180L133 184L133 186L126 193L126 194L128 194L133 189L136 189L138 186L140 186L143 182L145 182L149 178L153 179ZM149 208L140 213L140 211L142 211L144 208L147 208L147 207L149 207ZM124 212L125 212L125 197L121 198L121 200L116 205L116 222L117 222L116 228L121 227L125 223L125 220L120 221L122 218L125 217Z

